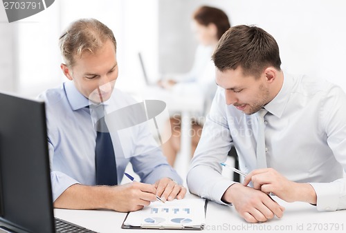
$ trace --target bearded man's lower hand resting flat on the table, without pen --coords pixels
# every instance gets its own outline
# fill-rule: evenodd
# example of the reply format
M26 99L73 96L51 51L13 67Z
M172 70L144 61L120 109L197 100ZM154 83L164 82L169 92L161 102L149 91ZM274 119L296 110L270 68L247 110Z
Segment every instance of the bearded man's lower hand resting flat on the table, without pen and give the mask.
M231 185L221 200L233 203L235 210L248 223L265 222L268 219L273 219L275 215L280 219L284 214L284 207L271 199L270 196L240 183Z

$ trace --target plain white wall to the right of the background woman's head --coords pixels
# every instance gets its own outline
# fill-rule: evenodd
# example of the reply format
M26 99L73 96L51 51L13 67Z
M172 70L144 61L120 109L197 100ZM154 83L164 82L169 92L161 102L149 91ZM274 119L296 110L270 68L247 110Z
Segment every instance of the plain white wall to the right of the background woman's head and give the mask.
M346 91L346 1L232 1L227 8L233 23L256 24L275 37L283 68L329 79Z

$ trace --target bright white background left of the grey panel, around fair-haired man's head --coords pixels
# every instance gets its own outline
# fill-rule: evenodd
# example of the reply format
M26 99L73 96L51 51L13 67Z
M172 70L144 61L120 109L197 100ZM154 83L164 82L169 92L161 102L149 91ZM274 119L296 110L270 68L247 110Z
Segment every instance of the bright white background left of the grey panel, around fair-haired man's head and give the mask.
M0 90L23 96L60 85L66 78L58 39L69 23L95 18L113 30L119 63L118 88L144 86L138 52L148 61L150 73L158 70L158 0L59 0L38 14L8 23L0 5Z

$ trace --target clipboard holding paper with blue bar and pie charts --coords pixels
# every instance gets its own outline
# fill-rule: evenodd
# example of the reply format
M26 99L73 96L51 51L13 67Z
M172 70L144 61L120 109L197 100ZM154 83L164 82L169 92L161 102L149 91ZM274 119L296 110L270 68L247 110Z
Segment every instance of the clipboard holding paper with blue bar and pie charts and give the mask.
M122 229L203 230L206 225L206 199L152 202L142 210L128 212Z

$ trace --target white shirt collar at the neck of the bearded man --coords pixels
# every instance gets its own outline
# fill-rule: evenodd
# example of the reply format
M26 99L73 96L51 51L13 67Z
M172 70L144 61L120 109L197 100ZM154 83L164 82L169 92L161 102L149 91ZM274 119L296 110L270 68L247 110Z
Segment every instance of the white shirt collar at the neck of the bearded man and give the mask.
M289 101L289 93L293 88L293 77L289 74L284 74L284 82L282 83L282 88L276 97L264 105L264 108L275 115L275 117L282 117L287 102Z

